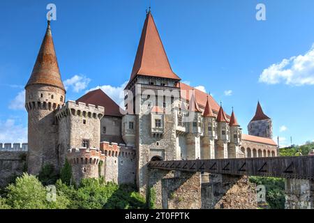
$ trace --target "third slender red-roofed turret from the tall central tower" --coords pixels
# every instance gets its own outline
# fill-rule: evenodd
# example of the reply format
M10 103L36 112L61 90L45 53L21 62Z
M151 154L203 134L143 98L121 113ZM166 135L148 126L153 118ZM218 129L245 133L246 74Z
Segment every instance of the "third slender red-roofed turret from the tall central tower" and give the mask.
M225 116L225 112L223 111L223 107L221 105L216 121L218 123L216 158L225 159L228 157L227 143L229 142L229 125L227 122L227 117Z

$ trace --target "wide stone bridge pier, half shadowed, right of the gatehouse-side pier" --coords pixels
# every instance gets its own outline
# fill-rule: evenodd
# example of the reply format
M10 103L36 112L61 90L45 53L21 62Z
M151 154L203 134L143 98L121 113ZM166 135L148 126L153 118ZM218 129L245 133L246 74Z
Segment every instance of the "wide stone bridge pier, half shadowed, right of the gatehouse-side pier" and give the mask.
M247 176L209 174L202 183L202 209L256 209L255 185Z

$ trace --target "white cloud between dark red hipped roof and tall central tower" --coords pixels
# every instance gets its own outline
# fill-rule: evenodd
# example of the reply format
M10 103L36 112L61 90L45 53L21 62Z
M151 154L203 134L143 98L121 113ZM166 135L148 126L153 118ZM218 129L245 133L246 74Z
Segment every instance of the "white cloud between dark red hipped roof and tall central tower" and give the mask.
M111 86L111 85L103 85L97 86L93 89L89 89L89 91L94 91L96 89L101 89L105 92L114 102L116 102L120 107L124 108L124 88L126 87L128 82L124 82L121 86Z

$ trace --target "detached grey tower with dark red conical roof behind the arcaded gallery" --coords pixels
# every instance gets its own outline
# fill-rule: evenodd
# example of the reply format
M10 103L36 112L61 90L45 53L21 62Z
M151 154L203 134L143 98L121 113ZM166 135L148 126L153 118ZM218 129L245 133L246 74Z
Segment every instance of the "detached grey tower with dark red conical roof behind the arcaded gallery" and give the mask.
M260 102L257 103L255 116L248 123L248 134L255 137L273 138L273 124L271 118L264 114Z

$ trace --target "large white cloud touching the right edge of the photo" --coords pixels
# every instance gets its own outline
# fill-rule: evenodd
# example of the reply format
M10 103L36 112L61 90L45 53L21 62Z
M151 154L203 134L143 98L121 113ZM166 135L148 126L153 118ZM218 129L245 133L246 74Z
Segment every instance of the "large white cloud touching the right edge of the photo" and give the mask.
M264 69L259 81L293 86L314 85L314 45L304 55L283 59Z

